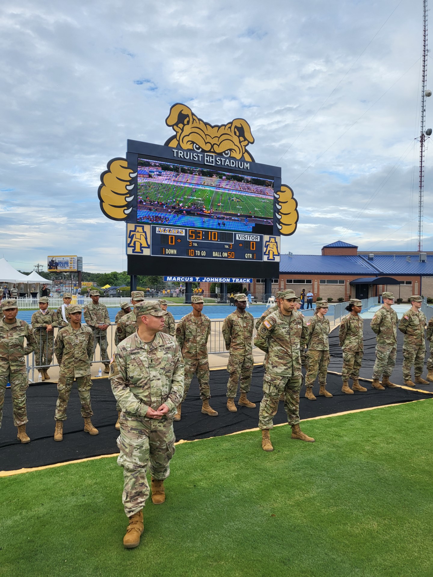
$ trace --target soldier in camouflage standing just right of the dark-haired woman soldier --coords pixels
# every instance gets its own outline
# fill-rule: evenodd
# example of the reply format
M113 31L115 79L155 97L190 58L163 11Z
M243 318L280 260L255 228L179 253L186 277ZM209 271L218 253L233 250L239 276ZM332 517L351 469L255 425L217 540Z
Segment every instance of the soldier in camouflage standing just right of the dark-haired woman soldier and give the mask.
M387 387L395 388L397 385L391 383L391 376L395 359L397 358L397 313L391 308L394 303L393 293L382 293L383 305L376 312L371 320L371 328L376 333L376 362L373 369L372 387L385 391ZM382 384L379 380L382 379Z

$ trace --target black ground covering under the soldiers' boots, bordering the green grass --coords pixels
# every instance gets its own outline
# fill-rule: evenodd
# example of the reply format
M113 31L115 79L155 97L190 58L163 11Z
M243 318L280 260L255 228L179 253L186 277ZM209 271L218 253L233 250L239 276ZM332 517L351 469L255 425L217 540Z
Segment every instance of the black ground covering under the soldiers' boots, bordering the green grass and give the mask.
M234 433L257 426L259 403L262 399L263 367L257 366L253 372L249 399L257 403L255 409L238 407L237 413L226 409L226 370L211 372L211 406L218 411L218 417L208 417L200 412L201 402L198 395L198 383L194 379L188 398L182 405L182 419L174 423L176 439L204 439L227 433ZM332 399L319 397L315 401L301 398L301 419L341 413L382 404L403 403L425 398L425 395L405 389L376 391L369 383L366 393L345 395L341 392L341 377L328 375L328 389L335 395ZM318 392L318 385L315 387ZM301 395L305 392L305 388ZM64 440L54 441L54 409L57 399L55 384L33 385L27 392L27 411L29 423L27 432L31 443L21 444L16 439L17 429L12 421L12 401L10 389L6 392L3 411L3 425L0 429L0 470L11 471L23 467L38 467L46 464L61 463L68 460L83 459L97 455L110 455L118 452L116 439L118 431L114 424L117 419L114 397L108 379L95 380L92 391L93 424L99 429L98 436L90 436L83 431L83 418L80 415L78 392L74 387L68 405L68 419L64 423ZM287 422L283 403L279 403L274 423Z

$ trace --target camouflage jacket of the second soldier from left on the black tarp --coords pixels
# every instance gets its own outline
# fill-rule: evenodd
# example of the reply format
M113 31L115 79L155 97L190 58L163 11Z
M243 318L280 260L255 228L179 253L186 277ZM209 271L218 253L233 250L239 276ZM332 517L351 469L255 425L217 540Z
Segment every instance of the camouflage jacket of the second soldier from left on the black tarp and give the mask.
M59 377L87 376L94 353L92 329L81 325L74 331L70 324L60 329L55 338L54 353L60 365Z

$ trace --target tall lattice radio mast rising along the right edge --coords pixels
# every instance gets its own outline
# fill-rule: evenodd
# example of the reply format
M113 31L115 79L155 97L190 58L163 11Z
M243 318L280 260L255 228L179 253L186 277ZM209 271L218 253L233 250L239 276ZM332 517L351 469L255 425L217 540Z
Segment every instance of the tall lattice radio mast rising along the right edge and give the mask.
M423 219L424 219L424 154L426 135L430 136L431 129L425 130L425 98L431 92L426 91L427 83L427 0L423 0L423 72L421 77L421 133L420 133L420 177L419 177L419 198L418 198L418 250L423 250Z

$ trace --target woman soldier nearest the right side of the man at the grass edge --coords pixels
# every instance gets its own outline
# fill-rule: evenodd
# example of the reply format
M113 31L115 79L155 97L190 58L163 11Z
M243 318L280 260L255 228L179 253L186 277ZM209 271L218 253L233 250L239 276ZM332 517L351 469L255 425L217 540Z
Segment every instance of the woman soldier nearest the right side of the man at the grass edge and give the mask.
M306 320L308 336L305 344L308 347L308 368L305 376L307 392L305 398L316 400L313 394L313 385L319 373L319 395L331 398L332 395L326 390L326 375L330 361L329 356L329 320L325 314L329 304L326 301L317 301L316 310L311 319Z

